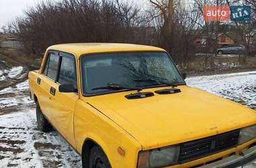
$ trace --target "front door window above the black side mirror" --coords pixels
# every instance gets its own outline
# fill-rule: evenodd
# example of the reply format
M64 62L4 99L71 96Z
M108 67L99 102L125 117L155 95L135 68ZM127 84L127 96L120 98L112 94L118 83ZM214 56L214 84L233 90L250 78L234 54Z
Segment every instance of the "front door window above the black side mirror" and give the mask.
M77 86L75 58L71 56L62 57L61 69L59 71L59 83Z

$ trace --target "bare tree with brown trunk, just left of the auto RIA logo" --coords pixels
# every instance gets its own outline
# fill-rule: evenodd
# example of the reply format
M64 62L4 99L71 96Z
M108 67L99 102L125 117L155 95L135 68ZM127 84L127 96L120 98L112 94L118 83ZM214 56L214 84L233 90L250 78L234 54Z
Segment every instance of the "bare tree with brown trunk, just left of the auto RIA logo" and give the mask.
M149 13L152 23L159 30L160 46L170 51L179 65L188 67L189 60L195 54L194 42L199 28L199 13L195 12L195 4L184 5L181 1L173 1L170 9L170 1L167 0L150 0L150 3L154 8Z

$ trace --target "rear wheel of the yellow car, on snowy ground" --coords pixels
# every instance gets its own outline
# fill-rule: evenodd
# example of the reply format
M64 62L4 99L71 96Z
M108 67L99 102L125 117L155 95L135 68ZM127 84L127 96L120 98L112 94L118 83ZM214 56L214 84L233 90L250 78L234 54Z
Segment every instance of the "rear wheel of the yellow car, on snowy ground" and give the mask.
M46 120L44 114L40 109L39 103L36 102L36 121L37 121L37 128L42 132L49 132L52 130L51 124Z

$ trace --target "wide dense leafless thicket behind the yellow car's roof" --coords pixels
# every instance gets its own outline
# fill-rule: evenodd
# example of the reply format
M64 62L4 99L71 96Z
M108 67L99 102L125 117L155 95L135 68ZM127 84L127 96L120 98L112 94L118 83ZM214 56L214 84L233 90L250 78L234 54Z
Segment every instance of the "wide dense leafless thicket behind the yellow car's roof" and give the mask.
M42 1L9 26L27 52L38 54L53 44L131 42L139 9L119 0Z

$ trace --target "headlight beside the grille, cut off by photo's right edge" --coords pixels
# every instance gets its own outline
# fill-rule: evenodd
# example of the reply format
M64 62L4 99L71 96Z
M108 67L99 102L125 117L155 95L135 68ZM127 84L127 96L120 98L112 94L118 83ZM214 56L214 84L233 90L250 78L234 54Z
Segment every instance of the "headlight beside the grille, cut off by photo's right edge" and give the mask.
M254 138L256 138L256 125L242 128L240 130L238 144L243 144Z

